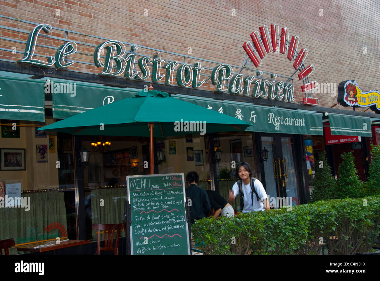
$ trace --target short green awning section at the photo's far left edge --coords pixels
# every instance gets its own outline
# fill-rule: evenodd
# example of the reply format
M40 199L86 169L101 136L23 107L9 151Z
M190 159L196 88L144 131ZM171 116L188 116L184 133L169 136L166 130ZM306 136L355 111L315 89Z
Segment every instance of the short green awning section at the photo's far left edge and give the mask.
M45 81L0 76L0 119L45 121Z

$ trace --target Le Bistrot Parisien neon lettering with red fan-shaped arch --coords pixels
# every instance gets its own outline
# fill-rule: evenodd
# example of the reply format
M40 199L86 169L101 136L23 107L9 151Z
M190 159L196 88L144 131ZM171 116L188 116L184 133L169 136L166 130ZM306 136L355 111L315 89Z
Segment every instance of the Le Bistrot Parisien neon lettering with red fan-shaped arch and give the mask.
M45 67L67 68L74 64L70 60L70 55L76 53L78 46L70 41L58 48L54 56L48 57L47 61L33 57L38 35L41 30L50 33L52 27L49 24L40 24L30 32L24 52L24 57L18 62L35 64ZM319 104L318 99L312 98L309 91L318 87L318 83L309 83L309 75L314 71L313 65L304 65L307 57L307 49L301 48L298 51L299 37L294 35L289 40L289 29L283 27L279 31L278 24L271 24L270 32L266 25L261 26L250 34L252 41L243 43L246 56L243 67L256 71L256 76L234 73L233 67L229 64L219 64L212 69L211 82L216 86L215 92L243 94L255 98L275 99L284 102L294 102L294 88L288 81L276 81L277 74L271 73L271 78L264 79L263 72L250 68L253 65L258 68L263 59L270 53L286 54L289 61L293 61L293 67L297 72L299 80L303 81L301 86L305 92L304 104ZM127 49L124 43L119 40L108 40L99 44L93 53L93 61L98 68L102 69L102 75L119 76L127 79L151 80L152 82L163 81L166 85L176 84L182 87L201 88L208 80L203 80L204 68L202 62L195 64L180 63L179 61L166 61L162 58L162 53L158 52L152 56L141 56L136 54L138 45L131 45ZM152 71L150 71L150 69ZM292 75L292 76L293 76ZM207 75L208 76L208 75ZM206 76L206 77L207 77ZM206 85L204 85L206 86ZM308 94L308 95L307 95Z

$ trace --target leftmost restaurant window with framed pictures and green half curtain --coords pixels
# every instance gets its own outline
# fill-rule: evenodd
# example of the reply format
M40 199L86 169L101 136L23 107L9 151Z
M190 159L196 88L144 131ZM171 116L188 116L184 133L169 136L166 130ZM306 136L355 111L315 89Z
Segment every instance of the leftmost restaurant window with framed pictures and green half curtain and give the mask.
M55 122L1 120L0 240L16 246L76 239L71 136L36 129Z

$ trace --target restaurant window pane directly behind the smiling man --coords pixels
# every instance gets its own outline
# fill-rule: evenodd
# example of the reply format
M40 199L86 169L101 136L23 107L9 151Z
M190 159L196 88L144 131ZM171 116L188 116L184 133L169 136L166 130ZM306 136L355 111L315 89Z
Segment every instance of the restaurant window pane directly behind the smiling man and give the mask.
M219 133L214 138L215 149L222 150L222 158L216 163L218 175L219 194L228 200L229 190L238 180L236 177L236 164L245 161L252 168L252 176L261 180L258 171L258 158L256 155L256 144L252 133L249 132L231 132ZM233 162L234 161L234 162ZM240 206L240 195L236 196L231 204L238 212L242 211Z

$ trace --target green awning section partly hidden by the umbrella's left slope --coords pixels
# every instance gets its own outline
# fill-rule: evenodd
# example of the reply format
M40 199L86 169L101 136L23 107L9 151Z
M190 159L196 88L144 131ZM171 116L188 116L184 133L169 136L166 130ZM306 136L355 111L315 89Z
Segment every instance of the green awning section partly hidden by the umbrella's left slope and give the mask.
M89 109L132 97L141 91L141 89L123 89L81 83L75 83L74 88L71 81L59 79L54 79L50 83L52 83L50 90L53 90L53 117L58 119L65 119ZM70 85L66 86L66 83ZM60 90L61 85L63 91ZM56 90L54 90L55 88ZM67 89L70 90L67 91ZM75 93L73 93L74 89Z

